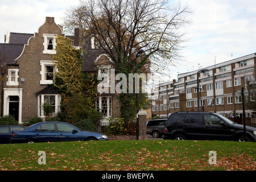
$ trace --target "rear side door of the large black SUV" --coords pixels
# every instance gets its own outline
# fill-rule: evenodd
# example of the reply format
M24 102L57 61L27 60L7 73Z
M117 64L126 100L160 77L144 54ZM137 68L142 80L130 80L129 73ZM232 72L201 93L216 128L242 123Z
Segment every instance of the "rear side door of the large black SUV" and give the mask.
M204 137L204 125L201 113L189 113L183 121L183 129L187 131L188 138L202 139Z

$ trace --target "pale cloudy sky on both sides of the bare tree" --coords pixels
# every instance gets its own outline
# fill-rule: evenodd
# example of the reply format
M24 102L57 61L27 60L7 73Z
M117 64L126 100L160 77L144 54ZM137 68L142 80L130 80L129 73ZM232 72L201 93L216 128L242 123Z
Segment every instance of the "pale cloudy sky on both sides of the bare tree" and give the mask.
M177 0L170 0L177 3ZM170 77L203 69L214 63L222 63L256 52L256 1L255 0L180 0L193 13L191 24L185 32L181 51L183 61L177 61L168 71ZM46 16L55 17L63 24L64 12L79 0L0 0L0 43L7 31L34 33L44 24Z

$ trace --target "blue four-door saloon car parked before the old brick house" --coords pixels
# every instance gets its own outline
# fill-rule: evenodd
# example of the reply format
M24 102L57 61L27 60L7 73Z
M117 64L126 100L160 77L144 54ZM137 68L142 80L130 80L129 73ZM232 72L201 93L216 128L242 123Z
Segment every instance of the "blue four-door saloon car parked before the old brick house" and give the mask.
M40 122L26 130L13 131L11 143L108 140L104 134L82 131L66 122Z

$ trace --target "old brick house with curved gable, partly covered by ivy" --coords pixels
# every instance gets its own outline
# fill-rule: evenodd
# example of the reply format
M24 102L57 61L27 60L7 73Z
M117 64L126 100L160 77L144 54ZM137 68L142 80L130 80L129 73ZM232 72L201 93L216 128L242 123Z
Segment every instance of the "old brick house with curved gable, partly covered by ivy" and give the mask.
M60 111L61 93L50 86L57 72L50 55L56 53L55 35L65 36L52 17L46 17L35 34L7 32L5 43L0 44L1 115L14 115L19 123L35 116L43 118L44 102L55 106L55 113ZM75 36L67 37L73 39L73 46L85 49L82 71L105 72L114 67L108 55L94 47L93 39L83 44L79 35L76 29ZM112 94L98 94L96 108L102 111L104 121L120 115Z

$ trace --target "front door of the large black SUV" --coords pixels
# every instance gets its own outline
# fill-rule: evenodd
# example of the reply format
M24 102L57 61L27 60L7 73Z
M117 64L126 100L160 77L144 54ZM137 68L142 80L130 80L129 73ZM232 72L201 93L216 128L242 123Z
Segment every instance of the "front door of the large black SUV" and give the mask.
M204 133L206 139L210 140L229 140L232 138L232 131L229 125L221 125L225 123L217 115L204 114Z

